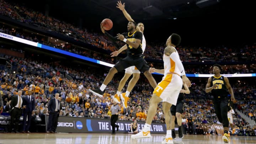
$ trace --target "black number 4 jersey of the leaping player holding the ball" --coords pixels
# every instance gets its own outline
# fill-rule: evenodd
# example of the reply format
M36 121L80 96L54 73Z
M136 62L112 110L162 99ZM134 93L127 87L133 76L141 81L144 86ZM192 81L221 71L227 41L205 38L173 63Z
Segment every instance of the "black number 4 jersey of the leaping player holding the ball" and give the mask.
M128 32L128 33L123 33L123 35L124 35L124 38L126 38L127 41L130 41L130 42L135 43L135 39L141 40L138 48L133 48L132 46L127 44L127 54L128 55L137 55L137 54L143 53L143 51L142 51L142 36L143 36L143 34L141 32L137 32L137 31L135 31L134 33Z

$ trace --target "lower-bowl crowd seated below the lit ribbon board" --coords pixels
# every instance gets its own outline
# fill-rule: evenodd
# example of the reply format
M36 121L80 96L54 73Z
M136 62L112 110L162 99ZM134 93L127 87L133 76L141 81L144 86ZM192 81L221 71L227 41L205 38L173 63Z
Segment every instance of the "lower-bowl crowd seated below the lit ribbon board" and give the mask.
M5 56L5 58L8 57ZM118 78L111 81L105 94L100 98L87 91L89 88L99 86L103 81L103 76L97 73L92 74L89 70L65 66L52 67L47 63L38 63L29 59L13 57L9 59L13 65L17 65L19 70L16 74L10 74L5 70L0 71L4 112L8 111L11 97L16 95L18 90L23 90L23 95L31 90L36 100L35 113L47 115L48 101L58 92L62 101L60 116L110 118L112 97L116 93ZM28 73L28 69L39 72ZM72 79L67 79L65 75L71 75ZM216 132L216 134L222 134L223 127L214 113L211 95L206 94L204 89L205 84L193 84L191 94L185 96L183 126L188 134L215 134ZM255 117L255 101L250 101L256 97L255 86L234 84L233 89L236 99L239 100L234 108L247 110L248 114L252 113ZM120 104L122 113L118 117L119 120L145 121L152 91L149 83L142 78L131 92L128 108L123 108ZM247 97L244 97L245 95ZM234 127L244 130L244 133L239 135L246 135L246 132L247 135L254 135L252 132L256 130L255 127L254 129L246 127L248 123L238 114L234 114L233 117ZM153 121L165 122L161 104Z

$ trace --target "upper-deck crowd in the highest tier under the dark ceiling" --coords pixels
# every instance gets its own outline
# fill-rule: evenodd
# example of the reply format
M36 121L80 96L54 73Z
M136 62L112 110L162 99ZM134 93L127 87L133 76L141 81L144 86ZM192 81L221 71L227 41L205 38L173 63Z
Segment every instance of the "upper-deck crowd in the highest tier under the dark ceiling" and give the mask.
M121 47L123 42L114 44L100 33L90 32L83 28L78 28L70 23L58 20L50 16L45 16L40 12L28 9L19 4L10 4L5 0L0 0L0 14L11 17L15 20L38 26L50 31L62 33L65 36L89 43L92 46L103 48L111 52L116 51L115 45ZM58 47L60 48L60 47ZM144 52L146 58L162 59L162 52L165 44L148 44ZM73 48L74 49L74 48ZM221 47L177 47L180 58L183 62L238 62L256 61L256 46L245 46L240 49ZM84 50L74 50L76 53L84 53ZM243 71L242 71L243 72Z

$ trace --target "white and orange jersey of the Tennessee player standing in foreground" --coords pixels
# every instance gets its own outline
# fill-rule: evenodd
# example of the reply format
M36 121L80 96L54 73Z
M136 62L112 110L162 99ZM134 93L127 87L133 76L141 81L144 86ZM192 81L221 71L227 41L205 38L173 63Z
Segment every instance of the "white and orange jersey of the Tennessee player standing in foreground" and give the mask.
M173 47L173 48L175 49L175 47ZM177 50L176 50L175 53L178 54ZM181 75L181 71L178 69L177 63L175 63L174 60L172 60L170 56L164 54L163 60L164 60L164 77L163 77L163 80L164 80L165 76L169 73L171 73L171 74L176 73L178 75Z

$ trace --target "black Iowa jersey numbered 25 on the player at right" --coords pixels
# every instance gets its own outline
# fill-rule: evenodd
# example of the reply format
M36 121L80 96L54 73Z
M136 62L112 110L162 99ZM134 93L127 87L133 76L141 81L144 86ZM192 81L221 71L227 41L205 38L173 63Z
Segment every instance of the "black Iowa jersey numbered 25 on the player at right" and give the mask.
M212 95L214 98L221 98L228 96L228 91L226 88L226 82L224 80L224 76L220 76L219 78L212 76L211 86L217 85L215 89L212 90Z

